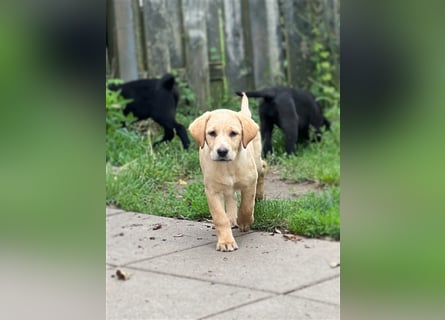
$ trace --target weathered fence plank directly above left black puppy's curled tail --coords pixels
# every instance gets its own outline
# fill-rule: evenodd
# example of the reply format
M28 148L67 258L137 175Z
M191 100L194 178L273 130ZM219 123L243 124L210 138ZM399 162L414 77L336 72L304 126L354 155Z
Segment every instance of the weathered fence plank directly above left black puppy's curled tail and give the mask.
M171 69L168 19L164 0L144 0L145 54L149 78L162 77Z

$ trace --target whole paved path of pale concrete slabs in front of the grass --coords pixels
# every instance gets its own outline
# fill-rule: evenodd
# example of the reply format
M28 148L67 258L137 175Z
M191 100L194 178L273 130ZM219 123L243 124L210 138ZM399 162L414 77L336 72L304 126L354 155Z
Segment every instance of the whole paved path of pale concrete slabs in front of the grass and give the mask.
M234 230L239 250L218 252L210 223L111 208L106 220L109 320L340 319L339 242Z

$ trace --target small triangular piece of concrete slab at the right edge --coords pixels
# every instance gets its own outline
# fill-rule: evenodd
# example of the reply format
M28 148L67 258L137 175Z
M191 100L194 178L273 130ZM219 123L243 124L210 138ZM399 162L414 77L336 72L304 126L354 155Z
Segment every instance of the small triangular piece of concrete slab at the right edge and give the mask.
M340 305L340 277L294 291L290 295Z

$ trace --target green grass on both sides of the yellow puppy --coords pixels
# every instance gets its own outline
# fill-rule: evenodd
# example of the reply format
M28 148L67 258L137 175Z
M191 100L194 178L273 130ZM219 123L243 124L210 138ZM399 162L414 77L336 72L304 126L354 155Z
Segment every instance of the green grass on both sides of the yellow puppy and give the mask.
M251 103L257 119L257 103ZM215 107L217 108L217 107ZM213 108L213 109L215 109ZM218 107L219 108L219 107ZM184 110L183 110L184 109ZM236 110L236 108L233 108ZM187 127L195 115L179 107L177 119ZM300 149L298 155L284 155L284 137L274 131L274 155L267 159L279 174L291 181L315 181L323 190L297 200L265 199L255 205L254 229L281 228L309 237L340 238L340 128L339 112L331 112L332 131L323 141ZM178 137L151 148L162 130L147 137L120 128L119 110L107 108L106 203L129 211L186 219L211 218L199 167L198 148L182 148Z

